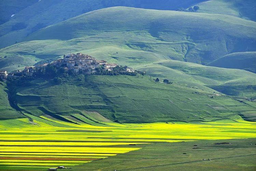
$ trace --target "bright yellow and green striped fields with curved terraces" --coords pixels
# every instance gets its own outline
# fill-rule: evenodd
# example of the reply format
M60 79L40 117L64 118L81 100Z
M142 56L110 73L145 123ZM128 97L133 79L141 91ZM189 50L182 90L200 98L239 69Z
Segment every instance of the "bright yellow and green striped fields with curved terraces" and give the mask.
M96 112L90 112L90 119L74 115L79 123L52 119L48 115L24 114L28 118L0 121L0 170L82 166L86 162L139 150L143 147L139 144L256 136L256 124L241 118L197 124L119 124ZM94 119L99 121L95 124L82 122Z

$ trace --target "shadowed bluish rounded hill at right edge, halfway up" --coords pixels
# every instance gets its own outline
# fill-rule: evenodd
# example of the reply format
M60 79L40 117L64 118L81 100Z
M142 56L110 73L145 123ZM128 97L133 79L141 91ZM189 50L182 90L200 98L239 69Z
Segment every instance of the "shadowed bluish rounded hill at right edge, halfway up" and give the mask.
M237 52L225 55L207 66L244 69L256 73L256 52Z

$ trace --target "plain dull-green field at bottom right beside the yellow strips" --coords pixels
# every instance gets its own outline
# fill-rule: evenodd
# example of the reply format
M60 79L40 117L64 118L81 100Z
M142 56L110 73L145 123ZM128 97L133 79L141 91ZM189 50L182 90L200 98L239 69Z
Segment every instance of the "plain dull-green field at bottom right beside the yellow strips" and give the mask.
M229 142L231 144L216 144ZM138 144L140 150L74 166L74 170L255 170L256 139ZM194 146L197 145L197 146ZM204 160L205 159L205 160ZM208 160L210 159L210 160Z

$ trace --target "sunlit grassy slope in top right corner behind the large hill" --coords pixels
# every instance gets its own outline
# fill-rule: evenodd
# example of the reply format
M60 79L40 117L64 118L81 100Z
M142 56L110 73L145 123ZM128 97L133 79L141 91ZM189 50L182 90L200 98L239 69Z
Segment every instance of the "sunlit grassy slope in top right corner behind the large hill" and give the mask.
M197 5L199 13L225 14L256 21L254 0L211 0Z

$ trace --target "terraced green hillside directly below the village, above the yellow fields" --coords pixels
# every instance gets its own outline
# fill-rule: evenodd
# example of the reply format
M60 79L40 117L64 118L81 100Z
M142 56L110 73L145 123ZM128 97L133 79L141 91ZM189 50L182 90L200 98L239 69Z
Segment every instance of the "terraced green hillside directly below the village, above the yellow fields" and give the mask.
M234 119L238 114L256 110L225 95L176 83L155 83L148 76L80 75L62 85L38 79L10 90L11 102L15 101L20 110L53 118L58 115L77 118L74 114L97 111L123 123L195 122Z

